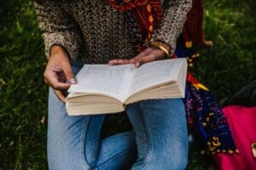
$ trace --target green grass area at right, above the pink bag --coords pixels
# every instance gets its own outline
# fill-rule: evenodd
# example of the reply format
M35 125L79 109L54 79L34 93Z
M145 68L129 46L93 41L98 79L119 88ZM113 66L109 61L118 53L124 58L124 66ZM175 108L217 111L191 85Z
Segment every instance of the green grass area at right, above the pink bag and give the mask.
M218 100L256 76L254 2L219 0L205 3L206 37L214 45L201 50L201 59L194 71Z

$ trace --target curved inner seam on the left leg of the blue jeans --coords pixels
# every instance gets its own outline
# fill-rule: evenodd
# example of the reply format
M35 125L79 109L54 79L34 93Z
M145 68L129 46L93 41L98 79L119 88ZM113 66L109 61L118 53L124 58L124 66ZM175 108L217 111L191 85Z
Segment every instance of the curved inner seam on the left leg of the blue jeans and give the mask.
M80 140L80 144L81 144L81 146L80 146L81 147L80 157L81 157L82 165L85 169L90 169L90 165L89 165L89 163L87 161L87 158L86 158L86 147L85 147L85 144L84 144L85 139L86 139L86 134L87 134L87 131L88 131L89 122L90 122L90 116L89 116L88 120L86 120L86 122L84 123L84 129L83 129L83 132L82 132L83 136Z

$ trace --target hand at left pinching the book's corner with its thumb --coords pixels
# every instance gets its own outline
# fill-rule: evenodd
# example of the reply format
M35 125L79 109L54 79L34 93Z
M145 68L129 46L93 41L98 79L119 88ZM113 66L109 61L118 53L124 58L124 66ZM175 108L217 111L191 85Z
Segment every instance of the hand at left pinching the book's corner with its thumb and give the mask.
M53 46L50 50L49 61L44 71L44 82L53 88L63 103L66 102L67 89L71 84L77 83L68 54L61 46Z

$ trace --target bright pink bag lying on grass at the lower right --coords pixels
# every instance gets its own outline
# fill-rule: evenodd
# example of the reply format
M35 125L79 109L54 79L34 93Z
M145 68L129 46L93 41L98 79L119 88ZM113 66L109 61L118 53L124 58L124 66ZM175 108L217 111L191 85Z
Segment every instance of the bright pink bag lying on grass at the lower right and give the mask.
M218 153L214 160L224 170L256 170L256 107L231 105L223 111L239 153Z

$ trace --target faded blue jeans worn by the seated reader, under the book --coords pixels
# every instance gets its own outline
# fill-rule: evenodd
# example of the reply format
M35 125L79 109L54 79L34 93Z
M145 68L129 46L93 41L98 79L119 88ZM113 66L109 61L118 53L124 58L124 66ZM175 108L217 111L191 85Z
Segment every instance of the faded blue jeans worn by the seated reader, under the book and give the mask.
M74 63L77 73L81 64ZM101 139L104 115L67 116L49 89L50 170L172 170L188 161L188 133L181 99L152 99L127 106L133 131Z

